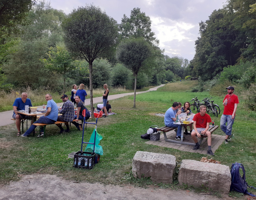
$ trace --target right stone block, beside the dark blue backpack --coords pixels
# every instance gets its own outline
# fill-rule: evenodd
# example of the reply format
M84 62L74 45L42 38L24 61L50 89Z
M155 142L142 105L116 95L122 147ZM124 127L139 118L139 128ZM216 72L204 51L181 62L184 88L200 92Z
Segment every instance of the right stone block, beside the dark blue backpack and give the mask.
M229 166L205 163L194 160L182 160L178 174L178 182L194 187L204 187L214 191L229 193L231 174Z

